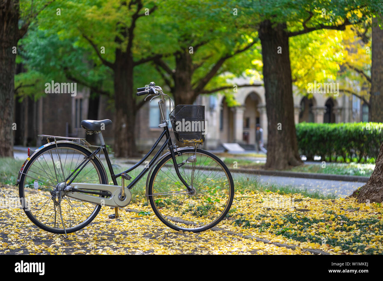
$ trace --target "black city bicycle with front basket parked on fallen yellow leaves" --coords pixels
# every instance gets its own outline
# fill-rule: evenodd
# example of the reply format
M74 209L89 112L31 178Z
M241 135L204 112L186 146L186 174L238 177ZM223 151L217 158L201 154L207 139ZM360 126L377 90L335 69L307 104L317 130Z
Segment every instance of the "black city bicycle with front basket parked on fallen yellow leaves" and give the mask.
M147 154L126 171L118 174L113 171L101 133L112 123L109 119L81 122L87 134L98 135L100 146L90 145L84 138L39 135L48 143L31 156L28 149L28 158L19 171L16 185L19 185L21 206L36 226L67 237L68 233L91 223L101 206L115 207L117 218L118 208L130 203L130 190L146 172L149 172L146 198L166 226L177 231L200 232L215 226L226 216L234 197L234 183L228 167L214 154L198 148L205 141L202 128L176 130L179 122L185 120L197 125L204 123L205 107L178 105L170 111L170 97L154 82L137 91L137 96L147 95L145 100L151 96L150 101L160 97L162 122L159 127L163 131ZM165 119L162 108L165 97L169 98L169 120ZM192 146L173 145L169 121L176 139ZM164 143L149 164L132 180L128 172L139 167L164 137ZM100 160L101 150L113 185L108 184ZM117 183L118 177L121 177L121 186ZM127 180L131 183L125 186Z

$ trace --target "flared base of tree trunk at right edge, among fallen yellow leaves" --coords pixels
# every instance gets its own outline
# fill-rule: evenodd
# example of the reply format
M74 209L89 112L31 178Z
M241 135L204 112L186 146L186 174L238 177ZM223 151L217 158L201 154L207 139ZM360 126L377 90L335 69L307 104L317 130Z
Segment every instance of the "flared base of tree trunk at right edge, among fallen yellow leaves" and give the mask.
M367 184L355 190L351 197L357 198L359 203L381 203L383 201L383 143L380 145L379 156L370 179Z

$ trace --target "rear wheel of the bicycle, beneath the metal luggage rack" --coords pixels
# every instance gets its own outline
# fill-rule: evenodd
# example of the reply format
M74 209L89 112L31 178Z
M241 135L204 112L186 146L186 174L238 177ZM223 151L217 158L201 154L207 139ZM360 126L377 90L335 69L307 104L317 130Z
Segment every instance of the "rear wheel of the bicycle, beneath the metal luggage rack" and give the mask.
M20 177L19 196L28 218L38 227L64 234L87 226L98 214L100 205L57 196L59 187L91 152L76 143L52 143L26 164ZM75 178L75 182L107 184L105 170L93 158ZM63 194L63 193L62 193ZM99 195L94 195L99 196ZM65 231L64 231L65 226Z

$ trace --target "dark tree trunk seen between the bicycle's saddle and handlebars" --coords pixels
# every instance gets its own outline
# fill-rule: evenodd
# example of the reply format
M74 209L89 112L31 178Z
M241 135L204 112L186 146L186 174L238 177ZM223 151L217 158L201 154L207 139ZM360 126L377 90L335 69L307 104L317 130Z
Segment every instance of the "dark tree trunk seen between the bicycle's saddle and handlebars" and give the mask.
M133 58L116 50L115 90L115 157L137 156L135 140L136 102L133 97Z

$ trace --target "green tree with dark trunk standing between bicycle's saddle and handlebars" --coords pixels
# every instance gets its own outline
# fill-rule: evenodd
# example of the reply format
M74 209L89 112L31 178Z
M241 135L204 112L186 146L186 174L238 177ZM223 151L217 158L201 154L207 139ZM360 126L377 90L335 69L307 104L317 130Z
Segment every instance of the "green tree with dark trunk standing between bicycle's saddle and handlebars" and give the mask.
M65 16L52 17L47 11L39 17L40 26L56 32L61 39L77 38L76 44L93 49L96 63L110 69L115 102L115 156L137 154L134 128L137 111L144 100L135 94L133 70L161 56L140 49L141 40L148 36L142 29L150 24L157 3L142 0L74 0L57 1L52 9L57 8ZM68 78L87 84L81 77L68 75ZM102 91L97 89L97 84L89 86L95 91Z

